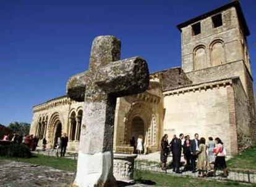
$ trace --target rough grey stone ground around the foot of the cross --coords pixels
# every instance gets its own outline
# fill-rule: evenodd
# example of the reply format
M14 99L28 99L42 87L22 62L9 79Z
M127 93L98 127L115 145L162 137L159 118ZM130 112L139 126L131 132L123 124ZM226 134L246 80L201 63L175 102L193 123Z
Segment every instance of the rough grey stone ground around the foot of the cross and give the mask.
M1 187L72 186L74 172L53 169L41 165L0 159ZM145 187L148 185L118 183L118 186Z

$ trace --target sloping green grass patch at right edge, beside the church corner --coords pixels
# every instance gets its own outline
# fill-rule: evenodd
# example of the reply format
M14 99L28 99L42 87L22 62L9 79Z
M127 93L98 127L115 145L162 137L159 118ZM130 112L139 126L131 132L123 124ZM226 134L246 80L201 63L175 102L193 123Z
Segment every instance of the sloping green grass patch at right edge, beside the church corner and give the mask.
M227 164L229 169L256 171L256 146L237 154Z

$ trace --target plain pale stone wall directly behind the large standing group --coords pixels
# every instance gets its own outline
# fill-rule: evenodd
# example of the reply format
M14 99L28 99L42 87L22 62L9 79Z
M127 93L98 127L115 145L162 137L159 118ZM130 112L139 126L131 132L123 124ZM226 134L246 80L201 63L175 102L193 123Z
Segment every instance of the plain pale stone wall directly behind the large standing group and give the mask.
M180 94L164 92L164 133L169 140L174 134L184 133L194 137L220 137L228 154L231 154L231 127L227 89L231 86L205 86L205 89L186 91ZM189 89L189 88L188 88ZM231 87L232 89L232 87Z

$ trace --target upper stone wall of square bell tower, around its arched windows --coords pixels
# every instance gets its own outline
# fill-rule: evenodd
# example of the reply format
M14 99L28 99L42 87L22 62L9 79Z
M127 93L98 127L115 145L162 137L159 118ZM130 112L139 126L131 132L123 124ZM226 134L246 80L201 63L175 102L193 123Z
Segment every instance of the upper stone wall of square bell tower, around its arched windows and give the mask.
M247 44L245 36L239 26L239 19L235 7L224 10L222 13L223 25L213 28L211 17L200 20L201 33L193 35L192 25L187 25L182 28L182 69L188 73L197 70L195 60L197 57L197 49L205 52L205 65L202 68L209 68L214 64L213 55L211 52L216 41L221 42L224 49L223 64L235 62L237 60L245 60L245 64L250 69L250 64L245 58ZM194 23L193 23L194 24ZM202 56L202 52L200 57Z

